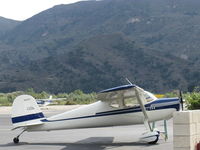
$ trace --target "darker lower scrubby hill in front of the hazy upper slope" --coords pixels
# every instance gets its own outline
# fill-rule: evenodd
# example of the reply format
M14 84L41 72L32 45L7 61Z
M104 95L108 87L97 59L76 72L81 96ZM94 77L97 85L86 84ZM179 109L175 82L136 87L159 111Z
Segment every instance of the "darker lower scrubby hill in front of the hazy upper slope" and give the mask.
M126 84L128 77L146 89L166 92L174 87L188 90L190 83L192 86L199 83L200 75L198 68L191 69L188 62L141 47L121 34L99 35L79 43L69 53L19 67L4 76L6 84L1 87L7 85L15 90L33 87L54 93L76 89L91 92ZM194 75L197 78L187 78Z

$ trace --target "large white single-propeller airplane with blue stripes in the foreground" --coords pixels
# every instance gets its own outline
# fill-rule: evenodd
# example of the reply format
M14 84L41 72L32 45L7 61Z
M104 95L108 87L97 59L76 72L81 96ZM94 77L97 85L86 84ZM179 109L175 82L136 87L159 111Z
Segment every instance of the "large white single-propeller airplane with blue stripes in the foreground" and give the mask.
M95 103L46 118L32 96L18 96L13 102L11 117L13 130L23 130L13 142L18 143L25 131L144 124L147 132L142 134L140 140L155 144L160 132L153 129L150 122L168 120L174 111L180 109L179 98L157 99L152 93L133 84L103 90L98 93L97 99L99 101Z

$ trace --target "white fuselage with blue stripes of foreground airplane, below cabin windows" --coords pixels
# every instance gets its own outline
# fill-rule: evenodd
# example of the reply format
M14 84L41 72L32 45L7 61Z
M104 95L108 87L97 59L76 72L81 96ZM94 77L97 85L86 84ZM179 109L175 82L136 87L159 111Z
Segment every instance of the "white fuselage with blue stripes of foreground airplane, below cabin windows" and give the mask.
M170 119L179 110L178 98L157 99L145 104L149 122ZM43 124L28 126L26 131L51 131L143 124L140 106L113 108L107 102L93 104L42 119Z

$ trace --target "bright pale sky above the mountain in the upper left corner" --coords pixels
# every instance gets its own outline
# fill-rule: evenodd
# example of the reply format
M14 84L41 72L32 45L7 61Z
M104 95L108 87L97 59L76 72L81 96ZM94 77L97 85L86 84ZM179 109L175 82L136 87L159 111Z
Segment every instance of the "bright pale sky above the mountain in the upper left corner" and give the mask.
M14 20L25 20L54 5L77 1L81 0L0 0L0 16Z

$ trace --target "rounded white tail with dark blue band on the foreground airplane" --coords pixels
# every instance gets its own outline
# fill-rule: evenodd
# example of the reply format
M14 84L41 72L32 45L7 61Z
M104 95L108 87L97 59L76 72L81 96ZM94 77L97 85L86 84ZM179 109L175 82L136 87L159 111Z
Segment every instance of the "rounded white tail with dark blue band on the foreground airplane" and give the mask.
M11 118L14 129L43 124L41 120L45 119L36 100L30 95L20 95L15 98Z

